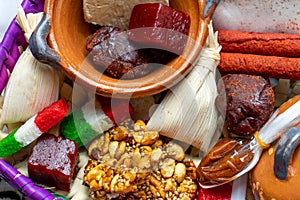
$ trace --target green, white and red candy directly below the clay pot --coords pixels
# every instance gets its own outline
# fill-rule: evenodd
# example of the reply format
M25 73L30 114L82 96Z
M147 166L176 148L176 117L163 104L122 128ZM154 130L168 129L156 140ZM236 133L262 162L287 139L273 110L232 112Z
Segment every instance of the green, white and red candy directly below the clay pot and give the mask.
M127 100L97 97L65 117L60 130L64 137L82 147L132 114L133 108Z

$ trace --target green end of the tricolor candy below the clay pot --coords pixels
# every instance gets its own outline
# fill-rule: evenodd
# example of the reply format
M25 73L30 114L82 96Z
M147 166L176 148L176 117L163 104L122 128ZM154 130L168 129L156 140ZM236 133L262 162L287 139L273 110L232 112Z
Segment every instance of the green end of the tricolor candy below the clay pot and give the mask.
M60 123L61 133L65 138L75 141L82 147L99 135L88 124L81 110L77 110L65 117Z

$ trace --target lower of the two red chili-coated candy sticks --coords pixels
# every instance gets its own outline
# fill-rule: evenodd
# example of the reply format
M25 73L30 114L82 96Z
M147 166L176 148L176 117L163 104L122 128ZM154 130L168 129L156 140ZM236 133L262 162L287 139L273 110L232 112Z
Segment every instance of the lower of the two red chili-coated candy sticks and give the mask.
M269 78L300 80L300 58L221 52L222 74L242 73Z

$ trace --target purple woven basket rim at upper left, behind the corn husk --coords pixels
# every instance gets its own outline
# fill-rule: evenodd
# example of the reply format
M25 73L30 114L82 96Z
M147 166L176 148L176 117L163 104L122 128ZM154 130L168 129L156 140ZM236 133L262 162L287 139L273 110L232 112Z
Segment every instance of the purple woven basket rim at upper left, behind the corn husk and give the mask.
M25 13L37 13L44 10L45 0L23 0L21 3ZM9 75L20 57L19 46L28 46L24 33L14 18L0 43L0 94L5 88ZM8 72L9 71L9 72Z

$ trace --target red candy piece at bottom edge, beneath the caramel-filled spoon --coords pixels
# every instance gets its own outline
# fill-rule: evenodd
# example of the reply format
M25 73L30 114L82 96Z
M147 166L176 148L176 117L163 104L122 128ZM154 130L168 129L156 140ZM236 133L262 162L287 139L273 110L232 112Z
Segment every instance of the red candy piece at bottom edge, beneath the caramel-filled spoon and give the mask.
M198 200L230 200L231 184L224 184L215 188L204 189L200 187Z

